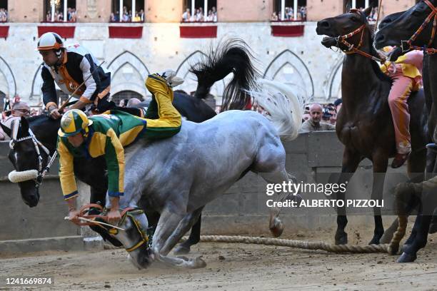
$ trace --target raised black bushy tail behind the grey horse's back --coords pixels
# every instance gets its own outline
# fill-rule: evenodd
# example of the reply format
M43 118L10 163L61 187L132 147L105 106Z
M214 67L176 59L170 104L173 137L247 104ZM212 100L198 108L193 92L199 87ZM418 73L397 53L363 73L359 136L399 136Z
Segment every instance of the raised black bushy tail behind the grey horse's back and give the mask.
M219 44L208 56L191 66L190 71L197 76L196 98L206 98L211 86L233 73L232 80L223 91L221 111L243 109L250 102L246 90L252 88L261 74L251 62L253 58L247 44L241 39L231 39Z

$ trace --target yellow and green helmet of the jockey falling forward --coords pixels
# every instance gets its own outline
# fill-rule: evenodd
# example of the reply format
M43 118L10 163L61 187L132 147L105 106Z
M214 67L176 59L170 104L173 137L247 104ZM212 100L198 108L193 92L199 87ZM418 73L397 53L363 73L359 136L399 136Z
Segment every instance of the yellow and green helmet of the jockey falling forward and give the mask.
M81 131L88 132L88 126L91 126L93 121L86 117L84 111L79 109L71 109L64 113L61 118L61 128L58 135L61 137L74 136Z

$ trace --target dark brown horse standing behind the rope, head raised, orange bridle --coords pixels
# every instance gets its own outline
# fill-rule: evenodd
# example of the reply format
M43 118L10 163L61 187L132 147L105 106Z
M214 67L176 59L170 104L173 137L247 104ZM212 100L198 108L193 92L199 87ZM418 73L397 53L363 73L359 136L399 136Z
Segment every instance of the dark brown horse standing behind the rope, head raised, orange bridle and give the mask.
M347 51L348 47L338 42L338 36L346 36L358 29L353 36L345 39L362 54L348 53L343 61L341 75L343 106L338 113L336 133L345 148L338 183L346 183L355 173L361 160L368 158L373 163L371 199L381 200L388 158L396 154L396 143L391 111L388 107L391 79L384 75L378 63L371 59L371 56L377 58L378 53L372 46L373 33L366 20L370 11L369 7L362 12L352 11L318 21L317 34L328 36L322 41L324 46L338 46L341 50ZM408 158L408 173L410 178L423 180L426 164L425 145L429 141L423 91L411 95L408 107L411 113L412 147ZM337 199L344 200L345 194L338 193ZM373 208L373 215L375 229L370 244L378 244L384 232L381 209ZM336 244L347 243L347 234L344 231L347 223L346 209L337 208Z

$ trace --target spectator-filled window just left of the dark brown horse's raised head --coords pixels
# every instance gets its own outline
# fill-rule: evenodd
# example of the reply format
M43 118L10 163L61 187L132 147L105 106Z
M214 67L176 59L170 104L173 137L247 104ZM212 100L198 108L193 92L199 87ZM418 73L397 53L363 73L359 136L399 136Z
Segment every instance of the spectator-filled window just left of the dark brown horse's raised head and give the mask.
M274 0L271 21L306 21L306 0Z

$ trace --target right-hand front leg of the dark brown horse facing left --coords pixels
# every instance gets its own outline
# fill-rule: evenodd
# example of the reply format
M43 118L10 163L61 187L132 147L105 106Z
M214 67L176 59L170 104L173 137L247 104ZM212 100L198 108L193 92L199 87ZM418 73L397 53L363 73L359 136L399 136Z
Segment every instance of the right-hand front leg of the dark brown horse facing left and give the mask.
M385 153L376 153L372 157L373 160L373 187L371 199L382 201L384 180L386 179L388 158ZM381 217L381 208L373 208L373 218L375 220L375 230L373 230L373 238L368 243L369 245L379 245L379 240L384 233L384 227Z

